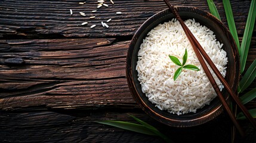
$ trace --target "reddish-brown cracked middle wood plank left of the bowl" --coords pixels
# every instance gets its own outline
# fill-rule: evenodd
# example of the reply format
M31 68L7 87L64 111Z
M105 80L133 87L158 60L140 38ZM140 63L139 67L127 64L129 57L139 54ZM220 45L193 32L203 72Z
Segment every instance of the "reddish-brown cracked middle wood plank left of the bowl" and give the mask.
M248 64L256 58L255 43ZM138 108L125 79L128 45L115 39L2 40L0 109ZM23 63L8 60L15 58Z

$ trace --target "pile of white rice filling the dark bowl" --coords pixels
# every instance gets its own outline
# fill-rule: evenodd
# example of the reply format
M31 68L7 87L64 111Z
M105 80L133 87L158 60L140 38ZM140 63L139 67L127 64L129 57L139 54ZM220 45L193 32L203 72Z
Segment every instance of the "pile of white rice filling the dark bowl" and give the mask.
M226 52L221 49L223 44L216 40L214 32L196 23L195 20L186 20L185 23L225 76ZM188 55L186 64L193 64L200 70L183 69L174 81L174 73L179 66L170 60L169 55L178 57L182 63L185 49ZM195 113L196 109L209 104L217 96L180 23L175 19L159 24L147 34L138 51L136 70L141 89L149 101L160 110L168 110L169 113ZM211 73L222 90L220 80L212 70Z

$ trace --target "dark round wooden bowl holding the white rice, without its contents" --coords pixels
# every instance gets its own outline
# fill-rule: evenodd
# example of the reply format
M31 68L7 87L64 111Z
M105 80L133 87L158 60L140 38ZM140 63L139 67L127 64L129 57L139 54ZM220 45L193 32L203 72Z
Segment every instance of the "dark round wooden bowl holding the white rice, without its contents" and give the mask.
M214 32L217 40L224 44L223 49L227 52L229 60L225 79L232 87L233 91L236 91L239 82L239 55L236 44L227 27L213 15L199 8L177 7L177 10L183 20L195 18L196 22L207 26ZM138 61L138 50L140 49L143 39L147 36L147 33L158 26L158 24L169 21L172 18L174 18L174 15L168 9L161 11L145 21L133 36L128 49L126 67L129 90L131 91L134 100L147 114L149 114L149 116L165 125L175 127L201 125L202 123L214 119L223 111L223 107L221 107L222 105L218 97L212 100L209 105L205 105L205 107L198 109L196 113L187 113L180 116L171 114L167 111L159 110L155 107L155 104L152 104L146 95L143 94L140 82L138 81L138 72L135 70ZM226 100L228 100L229 94L226 89L224 89L222 93Z

